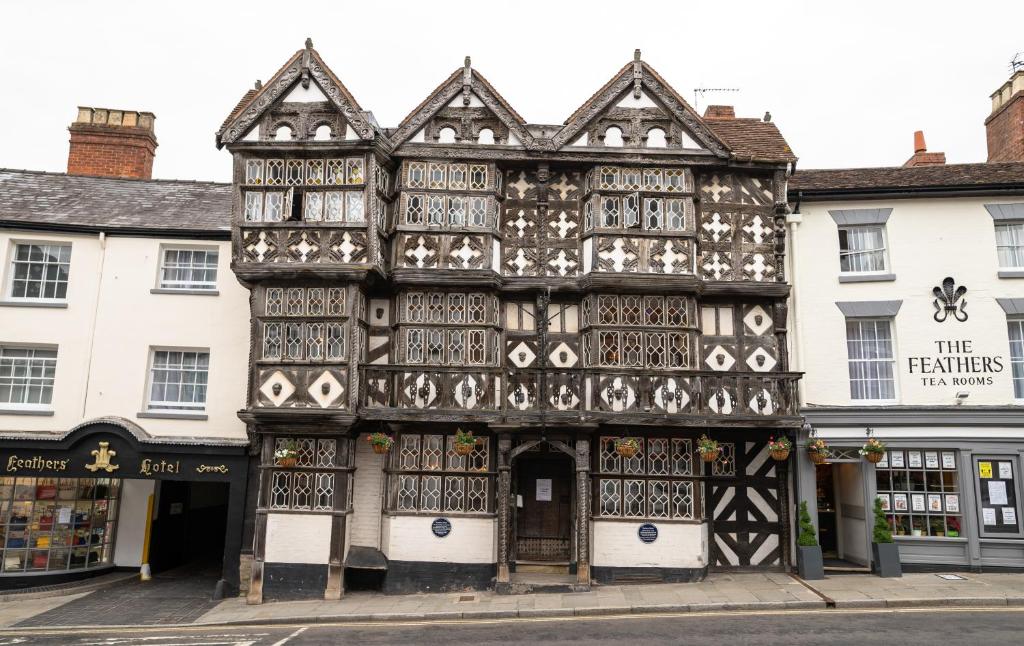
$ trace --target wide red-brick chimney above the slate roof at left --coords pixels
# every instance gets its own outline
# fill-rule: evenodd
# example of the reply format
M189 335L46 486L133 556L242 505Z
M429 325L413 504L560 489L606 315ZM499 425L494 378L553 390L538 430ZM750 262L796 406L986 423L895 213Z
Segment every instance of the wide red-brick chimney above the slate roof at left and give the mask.
M68 128L68 174L150 179L157 154L155 119L153 113L79 106L78 119Z

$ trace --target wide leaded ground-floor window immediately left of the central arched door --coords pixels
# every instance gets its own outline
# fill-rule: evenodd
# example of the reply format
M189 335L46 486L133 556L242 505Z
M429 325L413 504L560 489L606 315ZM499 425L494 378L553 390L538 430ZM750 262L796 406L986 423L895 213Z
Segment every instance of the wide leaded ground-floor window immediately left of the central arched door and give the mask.
M478 438L468 456L455 451L455 435L402 434L388 508L397 512L489 513L494 472L489 441Z

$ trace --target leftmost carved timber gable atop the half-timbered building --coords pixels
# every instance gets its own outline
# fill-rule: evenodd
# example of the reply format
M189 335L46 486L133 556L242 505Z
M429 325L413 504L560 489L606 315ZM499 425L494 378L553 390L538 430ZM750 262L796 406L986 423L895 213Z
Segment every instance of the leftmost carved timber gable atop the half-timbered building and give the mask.
M265 85L257 85L252 98L243 99L217 133L217 145L243 138L273 140L282 127L291 130L292 139L313 139L322 126L330 127L331 139L375 136L355 98L306 39L305 49L295 52Z

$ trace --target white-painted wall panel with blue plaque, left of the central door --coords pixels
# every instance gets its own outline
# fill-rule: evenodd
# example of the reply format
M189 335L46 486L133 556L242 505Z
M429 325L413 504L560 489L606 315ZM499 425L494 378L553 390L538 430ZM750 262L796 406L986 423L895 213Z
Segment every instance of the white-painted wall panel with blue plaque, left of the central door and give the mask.
M452 533L438 539L430 530L430 523L436 517L385 516L382 551L393 561L494 563L497 560L494 518L445 516L452 521Z

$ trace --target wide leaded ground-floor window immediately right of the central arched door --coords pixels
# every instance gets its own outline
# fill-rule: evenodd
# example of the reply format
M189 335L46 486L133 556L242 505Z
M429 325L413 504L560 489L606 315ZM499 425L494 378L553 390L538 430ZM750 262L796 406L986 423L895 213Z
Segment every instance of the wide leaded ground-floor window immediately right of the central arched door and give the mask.
M693 479L693 442L689 438L638 438L640 450L624 458L614 437L602 437L597 457L597 516L663 520L699 520L699 482Z

